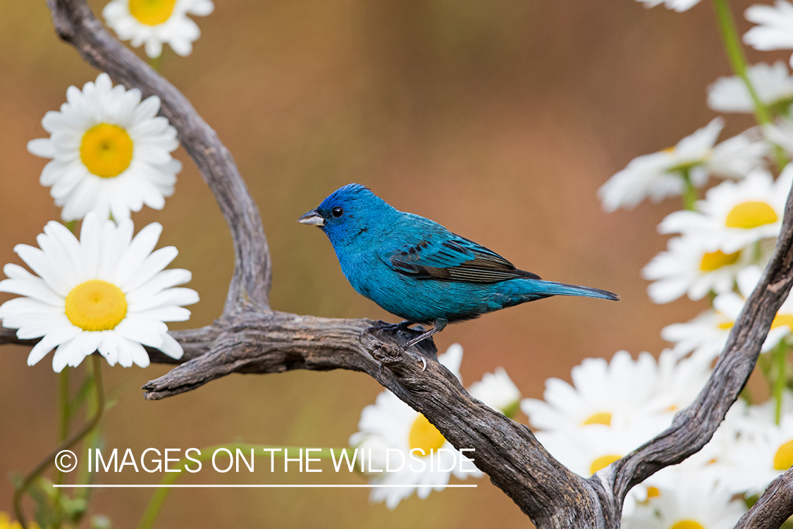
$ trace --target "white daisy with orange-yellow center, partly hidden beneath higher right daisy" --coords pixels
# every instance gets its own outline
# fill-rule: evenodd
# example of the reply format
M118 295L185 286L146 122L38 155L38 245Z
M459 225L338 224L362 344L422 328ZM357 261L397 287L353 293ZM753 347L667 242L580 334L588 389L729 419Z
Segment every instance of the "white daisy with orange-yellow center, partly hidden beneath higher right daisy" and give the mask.
M667 250L653 257L642 277L653 281L647 293L655 303L668 303L684 294L694 301L709 292L733 288L735 275L752 257L751 251L707 251L703 237L689 235L668 240Z

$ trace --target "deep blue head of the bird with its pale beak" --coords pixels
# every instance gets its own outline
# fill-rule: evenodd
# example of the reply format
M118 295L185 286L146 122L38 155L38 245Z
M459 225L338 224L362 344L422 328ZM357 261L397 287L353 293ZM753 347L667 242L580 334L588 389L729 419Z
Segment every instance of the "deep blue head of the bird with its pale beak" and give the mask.
M371 236L376 236L394 213L399 212L368 187L347 184L335 190L297 222L320 228L336 247L363 243Z

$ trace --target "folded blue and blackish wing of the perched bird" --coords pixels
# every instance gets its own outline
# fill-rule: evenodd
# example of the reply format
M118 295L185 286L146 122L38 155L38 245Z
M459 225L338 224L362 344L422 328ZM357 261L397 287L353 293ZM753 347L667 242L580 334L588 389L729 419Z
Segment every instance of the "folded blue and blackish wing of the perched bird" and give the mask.
M381 259L400 274L417 279L466 283L496 283L514 278L539 279L518 270L495 251L454 233L429 236L416 244L385 251Z

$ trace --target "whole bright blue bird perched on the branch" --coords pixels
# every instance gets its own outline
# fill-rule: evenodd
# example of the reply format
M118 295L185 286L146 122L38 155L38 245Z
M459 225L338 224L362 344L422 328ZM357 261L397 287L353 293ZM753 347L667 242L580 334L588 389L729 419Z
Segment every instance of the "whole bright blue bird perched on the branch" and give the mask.
M400 326L432 325L405 348L446 324L543 297L619 300L605 290L542 281L437 222L393 208L360 184L335 190L297 222L325 232L347 281L403 318Z

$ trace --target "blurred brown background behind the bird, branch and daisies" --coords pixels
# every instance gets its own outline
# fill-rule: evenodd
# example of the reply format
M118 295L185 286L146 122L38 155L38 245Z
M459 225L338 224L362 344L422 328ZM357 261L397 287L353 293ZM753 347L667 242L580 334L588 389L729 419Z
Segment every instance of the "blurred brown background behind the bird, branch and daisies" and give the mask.
M104 2L91 4L98 11ZM749 28L746 6L734 2L741 33ZM665 247L655 225L679 204L607 215L596 190L634 156L671 146L713 117L705 88L729 65L709 2L679 14L632 0L228 0L196 20L202 36L193 55L167 48L162 71L231 149L259 204L275 309L396 321L354 293L319 230L295 223L347 182L365 183L398 209L437 220L543 278L623 297L553 298L447 328L436 343L441 351L465 347L466 385L504 366L524 396L541 397L546 378L569 380L581 358L611 358L623 348L657 355L665 345L660 329L702 308L651 304L639 275ZM753 61L786 56L749 52ZM97 72L57 40L43 1L13 0L0 0L0 72L0 264L21 263L14 244L35 244L44 224L59 218L38 184L45 161L25 144L45 136L40 119L65 101L67 86ZM750 124L730 117L727 133ZM220 314L231 240L190 159L182 150L176 156L185 170L174 197L162 212L144 209L133 219L137 228L164 224L161 246L178 247L173 266L192 270L190 286L201 294L193 319L174 327L200 326ZM56 439L52 355L34 367L26 355L23 347L0 351L6 512L7 476L35 466ZM140 386L166 370L105 369L117 401L105 422L108 447L140 453L232 440L343 447L381 391L363 374L292 372L235 375L144 401ZM327 470L315 476L363 482ZM312 481L258 471L221 482ZM365 489L183 489L171 493L158 527L530 525L487 478L477 483L427 500L412 496L395 512L370 504ZM105 489L92 512L109 515L114 527L136 527L150 495Z

